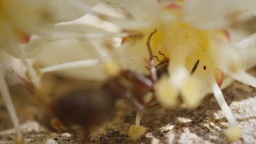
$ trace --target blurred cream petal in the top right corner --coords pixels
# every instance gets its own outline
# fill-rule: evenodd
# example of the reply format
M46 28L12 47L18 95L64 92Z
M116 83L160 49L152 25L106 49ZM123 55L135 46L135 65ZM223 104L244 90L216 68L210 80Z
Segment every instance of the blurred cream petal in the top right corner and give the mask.
M254 0L189 0L184 20L202 29L226 28L256 15Z

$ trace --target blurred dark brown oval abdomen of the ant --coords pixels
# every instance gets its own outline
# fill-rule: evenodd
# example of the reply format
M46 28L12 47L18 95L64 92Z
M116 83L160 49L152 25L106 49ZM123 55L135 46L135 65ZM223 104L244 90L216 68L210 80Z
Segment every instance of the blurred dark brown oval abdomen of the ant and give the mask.
M92 127L108 118L114 109L114 98L101 89L71 91L55 102L55 115L65 124Z

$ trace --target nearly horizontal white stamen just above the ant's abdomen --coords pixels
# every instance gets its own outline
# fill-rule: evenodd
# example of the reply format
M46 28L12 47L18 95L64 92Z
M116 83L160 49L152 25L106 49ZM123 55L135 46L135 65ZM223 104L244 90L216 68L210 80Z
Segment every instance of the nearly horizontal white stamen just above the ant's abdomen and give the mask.
M71 69L71 68L82 68L82 67L94 67L100 61L98 59L86 59L83 61L75 61L68 63L61 63L56 65L51 65L50 67L42 68L40 71L42 73L49 73L51 71L63 70L63 69Z

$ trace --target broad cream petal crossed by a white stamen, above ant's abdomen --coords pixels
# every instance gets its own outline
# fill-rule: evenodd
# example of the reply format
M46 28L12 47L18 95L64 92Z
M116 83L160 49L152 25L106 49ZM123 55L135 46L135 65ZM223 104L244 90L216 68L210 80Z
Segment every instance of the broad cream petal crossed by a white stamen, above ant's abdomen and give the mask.
M42 67L49 67L60 63L97 59L99 57L100 54L89 41L58 40L45 44L39 55L33 59ZM56 73L78 80L103 80L106 78L102 65L90 68L65 69L56 71Z

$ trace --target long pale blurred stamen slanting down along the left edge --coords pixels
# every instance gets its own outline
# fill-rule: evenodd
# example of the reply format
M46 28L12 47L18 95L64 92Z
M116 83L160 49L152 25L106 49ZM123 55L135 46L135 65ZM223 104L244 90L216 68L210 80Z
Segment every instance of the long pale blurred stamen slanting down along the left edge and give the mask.
M7 87L7 83L4 78L4 70L0 66L0 91L5 103L5 106L7 107L7 110L9 112L9 115L11 117L11 121L13 122L16 134L18 135L19 140L22 139L22 133L20 129L19 119L17 117L16 111L14 109L13 101L11 100L10 93Z

